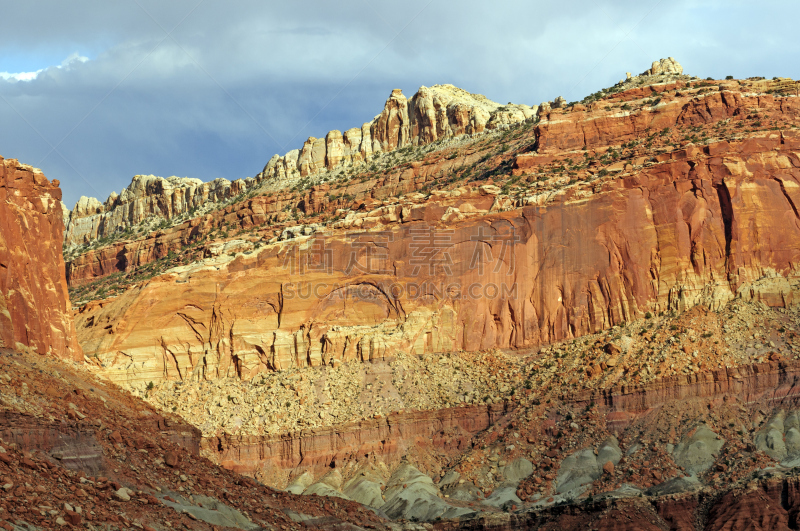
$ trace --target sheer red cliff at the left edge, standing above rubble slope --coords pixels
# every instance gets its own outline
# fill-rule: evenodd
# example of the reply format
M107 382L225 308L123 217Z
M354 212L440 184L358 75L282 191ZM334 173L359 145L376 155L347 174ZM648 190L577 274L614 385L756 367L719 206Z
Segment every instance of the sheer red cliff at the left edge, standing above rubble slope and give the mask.
M0 157L0 347L80 359L61 255L61 189Z

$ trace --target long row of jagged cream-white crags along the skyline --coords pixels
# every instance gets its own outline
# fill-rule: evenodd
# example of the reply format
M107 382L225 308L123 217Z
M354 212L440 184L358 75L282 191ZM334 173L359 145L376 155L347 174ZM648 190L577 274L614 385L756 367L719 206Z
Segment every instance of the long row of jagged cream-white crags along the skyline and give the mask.
M148 229L169 226L170 221L193 218L241 200L245 193L262 186L262 181L267 181L263 186L268 189L314 177L324 182L323 174L341 176L381 154L506 129L535 117L536 110L527 105L500 105L452 85L421 87L410 100L396 89L383 112L371 122L344 134L330 131L325 138L311 137L301 149L272 157L255 179L203 183L199 179L137 175L122 194L112 193L105 203L81 197L65 214L65 249L72 255L92 244L135 237ZM270 182L275 180L279 181L277 185Z

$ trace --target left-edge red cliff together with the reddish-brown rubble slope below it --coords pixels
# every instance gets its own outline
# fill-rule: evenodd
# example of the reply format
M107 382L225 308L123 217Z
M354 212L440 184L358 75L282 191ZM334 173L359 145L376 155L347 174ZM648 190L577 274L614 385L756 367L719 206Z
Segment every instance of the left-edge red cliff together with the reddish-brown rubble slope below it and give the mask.
M217 466L197 428L89 374L66 299L58 181L0 159L0 195L0 528L391 525Z

